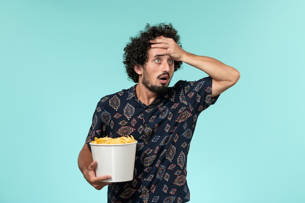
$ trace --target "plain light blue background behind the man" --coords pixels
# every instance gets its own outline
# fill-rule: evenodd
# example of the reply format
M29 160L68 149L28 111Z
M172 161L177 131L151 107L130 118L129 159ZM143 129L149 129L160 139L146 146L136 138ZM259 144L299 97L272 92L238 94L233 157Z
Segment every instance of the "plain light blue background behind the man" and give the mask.
M191 203L305 202L305 1L0 0L0 203L105 203L77 167L98 100L129 88L129 37L172 22L241 72L199 117ZM184 64L179 79L206 74Z

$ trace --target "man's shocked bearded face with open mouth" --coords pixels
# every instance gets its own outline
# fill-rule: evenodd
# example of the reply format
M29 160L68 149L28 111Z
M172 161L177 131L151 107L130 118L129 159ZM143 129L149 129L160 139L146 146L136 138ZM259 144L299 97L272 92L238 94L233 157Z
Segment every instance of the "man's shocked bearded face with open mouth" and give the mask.
M157 55L161 49L150 49L148 60L143 66L142 84L151 92L167 90L174 72L174 60L170 55Z

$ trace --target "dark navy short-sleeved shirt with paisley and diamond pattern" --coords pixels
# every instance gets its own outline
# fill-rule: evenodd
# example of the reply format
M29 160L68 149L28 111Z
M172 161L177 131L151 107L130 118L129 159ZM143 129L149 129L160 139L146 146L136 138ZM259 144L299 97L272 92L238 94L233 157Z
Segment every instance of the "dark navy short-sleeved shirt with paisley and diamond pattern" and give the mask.
M135 86L103 97L86 139L130 136L138 141L134 177L108 186L108 203L184 203L190 200L187 155L198 115L211 98L212 79L178 81L149 106Z

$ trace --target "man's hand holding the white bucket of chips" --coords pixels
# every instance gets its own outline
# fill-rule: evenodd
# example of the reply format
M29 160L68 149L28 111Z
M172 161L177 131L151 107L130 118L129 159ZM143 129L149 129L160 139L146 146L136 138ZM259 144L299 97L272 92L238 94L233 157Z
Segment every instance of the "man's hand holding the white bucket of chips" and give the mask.
M83 175L85 179L90 183L92 186L95 187L95 189L100 190L104 186L109 185L111 183L103 183L101 181L105 181L111 178L110 175L105 175L105 176L95 176L95 166L97 165L97 162L94 161L92 162L88 169L83 172Z

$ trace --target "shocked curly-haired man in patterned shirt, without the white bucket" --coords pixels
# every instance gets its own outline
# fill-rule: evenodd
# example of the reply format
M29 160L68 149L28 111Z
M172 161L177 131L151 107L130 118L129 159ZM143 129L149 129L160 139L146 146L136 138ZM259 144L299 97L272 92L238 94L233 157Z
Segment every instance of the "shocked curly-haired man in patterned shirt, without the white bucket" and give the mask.
M138 141L133 180L108 185L108 203L188 202L186 163L197 117L240 74L214 58L184 51L172 24L147 24L124 51L126 72L137 84L98 102L78 166L91 185L103 188L108 183L101 181L111 177L95 177L89 143L95 137L133 135ZM182 62L209 77L168 87Z

